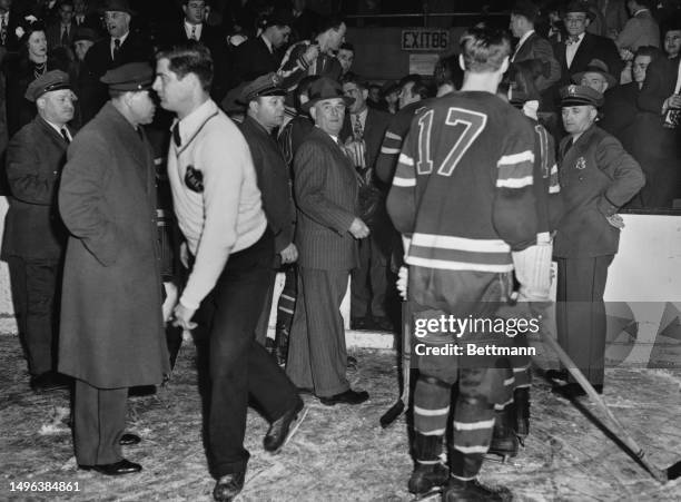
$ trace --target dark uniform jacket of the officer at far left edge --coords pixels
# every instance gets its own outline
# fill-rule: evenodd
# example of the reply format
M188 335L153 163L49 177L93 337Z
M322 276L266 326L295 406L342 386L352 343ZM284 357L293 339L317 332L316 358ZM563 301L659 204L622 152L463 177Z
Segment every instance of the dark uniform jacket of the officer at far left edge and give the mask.
M57 187L68 144L37 116L14 135L7 151L9 210L2 235L2 258L59 262L67 232L57 209Z

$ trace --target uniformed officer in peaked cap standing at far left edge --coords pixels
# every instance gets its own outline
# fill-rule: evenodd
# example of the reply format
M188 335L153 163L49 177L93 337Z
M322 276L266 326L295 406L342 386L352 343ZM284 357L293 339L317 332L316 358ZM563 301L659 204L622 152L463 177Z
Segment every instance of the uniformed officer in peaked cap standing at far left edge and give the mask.
M58 291L67 232L57 209L57 187L73 130L76 96L69 76L48 71L26 99L36 118L12 138L7 152L10 187L2 258L9 264L12 298L36 391L63 386L57 375Z

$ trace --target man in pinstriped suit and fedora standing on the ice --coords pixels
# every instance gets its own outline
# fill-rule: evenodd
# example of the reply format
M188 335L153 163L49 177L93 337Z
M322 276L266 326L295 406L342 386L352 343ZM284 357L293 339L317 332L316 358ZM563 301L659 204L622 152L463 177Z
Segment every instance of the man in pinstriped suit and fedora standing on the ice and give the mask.
M316 127L294 159L298 298L286 373L325 405L359 404L368 398L368 393L353 391L347 381L340 316L349 272L358 265L357 239L369 235L357 216L355 167L338 145L345 107L351 102L335 80L316 80L309 88L309 101L303 105Z

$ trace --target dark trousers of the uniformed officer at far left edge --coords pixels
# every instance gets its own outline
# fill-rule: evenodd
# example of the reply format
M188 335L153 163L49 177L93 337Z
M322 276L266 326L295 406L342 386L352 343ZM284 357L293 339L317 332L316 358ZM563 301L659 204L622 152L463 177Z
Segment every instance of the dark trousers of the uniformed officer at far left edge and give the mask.
M8 259L19 336L31 375L57 368L58 260Z

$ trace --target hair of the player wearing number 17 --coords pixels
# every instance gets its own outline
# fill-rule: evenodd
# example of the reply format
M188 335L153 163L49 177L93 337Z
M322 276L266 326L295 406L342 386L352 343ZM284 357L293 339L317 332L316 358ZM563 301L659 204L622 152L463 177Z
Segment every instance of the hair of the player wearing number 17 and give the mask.
M511 38L501 30L471 28L460 40L466 71L490 73L497 71L511 55Z

